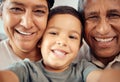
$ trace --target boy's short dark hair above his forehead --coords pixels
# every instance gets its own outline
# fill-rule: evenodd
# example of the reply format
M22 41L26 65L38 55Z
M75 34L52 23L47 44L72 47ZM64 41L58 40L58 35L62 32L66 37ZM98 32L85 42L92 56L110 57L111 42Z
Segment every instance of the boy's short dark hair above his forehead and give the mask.
M77 19L80 20L81 24L82 24L82 18L80 13L74 9L73 7L70 6L57 6L55 8L53 8L48 16L48 21L55 15L57 14L70 14L72 16L75 16ZM72 20L71 20L72 21ZM83 27L81 28L83 30ZM82 31L83 32L83 31ZM81 34L81 36L83 36L83 33ZM82 39L81 39L82 40ZM82 42L82 41L81 41Z

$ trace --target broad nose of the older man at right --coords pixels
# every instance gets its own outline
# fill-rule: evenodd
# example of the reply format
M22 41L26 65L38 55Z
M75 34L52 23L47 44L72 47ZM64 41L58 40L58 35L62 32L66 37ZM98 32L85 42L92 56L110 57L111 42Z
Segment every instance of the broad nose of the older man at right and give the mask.
M111 25L107 21L107 19L101 19L99 21L98 26L96 27L96 31L101 34L101 35L106 35L110 32L111 30Z

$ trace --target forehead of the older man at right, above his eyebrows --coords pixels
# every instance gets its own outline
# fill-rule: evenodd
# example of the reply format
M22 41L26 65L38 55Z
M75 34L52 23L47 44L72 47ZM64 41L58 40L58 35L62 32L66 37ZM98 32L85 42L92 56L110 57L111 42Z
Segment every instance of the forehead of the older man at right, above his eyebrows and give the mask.
M107 9L120 9L120 0L84 0L85 9L91 8L107 8Z

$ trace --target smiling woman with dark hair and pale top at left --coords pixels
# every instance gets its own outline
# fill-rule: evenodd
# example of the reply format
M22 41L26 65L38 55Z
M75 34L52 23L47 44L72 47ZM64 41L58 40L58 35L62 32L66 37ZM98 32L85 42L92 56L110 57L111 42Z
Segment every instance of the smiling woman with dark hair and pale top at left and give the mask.
M29 3L29 4L28 4ZM0 15L8 39L0 42L0 69L29 58L41 59L37 43L54 0L2 0Z

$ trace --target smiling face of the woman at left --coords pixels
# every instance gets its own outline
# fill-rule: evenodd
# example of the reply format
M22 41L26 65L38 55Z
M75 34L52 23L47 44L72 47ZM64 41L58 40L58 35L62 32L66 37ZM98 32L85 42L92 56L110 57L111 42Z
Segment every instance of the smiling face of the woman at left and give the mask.
M5 0L2 19L12 48L23 52L35 50L47 17L46 0Z

